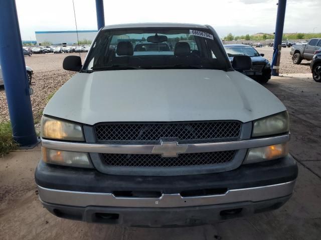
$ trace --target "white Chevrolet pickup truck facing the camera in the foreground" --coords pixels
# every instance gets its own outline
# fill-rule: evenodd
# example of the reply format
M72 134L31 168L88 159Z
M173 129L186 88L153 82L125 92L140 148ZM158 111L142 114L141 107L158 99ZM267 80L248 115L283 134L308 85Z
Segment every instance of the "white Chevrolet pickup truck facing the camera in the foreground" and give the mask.
M135 49L141 41L148 46ZM84 63L67 56L63 67L78 73L44 110L35 173L56 216L195 225L290 198L297 166L286 108L236 71L251 68L250 57L231 65L211 26L105 26Z

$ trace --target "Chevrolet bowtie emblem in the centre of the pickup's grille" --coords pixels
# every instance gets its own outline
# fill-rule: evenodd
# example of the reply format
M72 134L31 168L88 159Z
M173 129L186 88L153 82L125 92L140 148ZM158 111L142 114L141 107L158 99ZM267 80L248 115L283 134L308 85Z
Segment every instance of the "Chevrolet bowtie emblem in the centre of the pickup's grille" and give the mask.
M186 152L188 145L180 145L177 141L164 142L161 140L161 145L156 145L152 148L151 153L162 154L164 157L175 157L179 153Z

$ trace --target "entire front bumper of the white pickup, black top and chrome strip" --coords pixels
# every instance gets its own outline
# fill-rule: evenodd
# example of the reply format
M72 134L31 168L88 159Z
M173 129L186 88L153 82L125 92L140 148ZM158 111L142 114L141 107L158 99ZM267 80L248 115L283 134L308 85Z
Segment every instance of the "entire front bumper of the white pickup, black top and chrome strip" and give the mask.
M40 199L57 216L148 226L204 224L277 208L292 194L296 176L296 162L290 155L241 165L231 171L199 175L110 175L96 169L63 167L43 161L35 173ZM216 189L218 193L183 194L199 189ZM123 191L157 191L161 195L114 194Z

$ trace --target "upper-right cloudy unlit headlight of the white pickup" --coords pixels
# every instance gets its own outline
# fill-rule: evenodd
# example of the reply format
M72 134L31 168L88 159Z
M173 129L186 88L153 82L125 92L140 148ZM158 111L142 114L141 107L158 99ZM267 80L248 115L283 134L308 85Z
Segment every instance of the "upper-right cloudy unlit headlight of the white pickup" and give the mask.
M282 111L254 121L252 136L276 135L289 131L289 114Z

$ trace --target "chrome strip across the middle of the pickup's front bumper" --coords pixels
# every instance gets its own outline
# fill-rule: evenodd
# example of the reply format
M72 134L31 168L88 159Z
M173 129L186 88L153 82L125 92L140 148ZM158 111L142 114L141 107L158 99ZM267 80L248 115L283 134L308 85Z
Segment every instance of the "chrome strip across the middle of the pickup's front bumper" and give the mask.
M224 194L182 197L163 194L161 197L116 197L112 193L67 191L44 188L38 185L39 198L47 203L69 206L116 207L185 207L216 205L234 202L257 202L288 196L293 192L295 180L250 188L230 189Z

